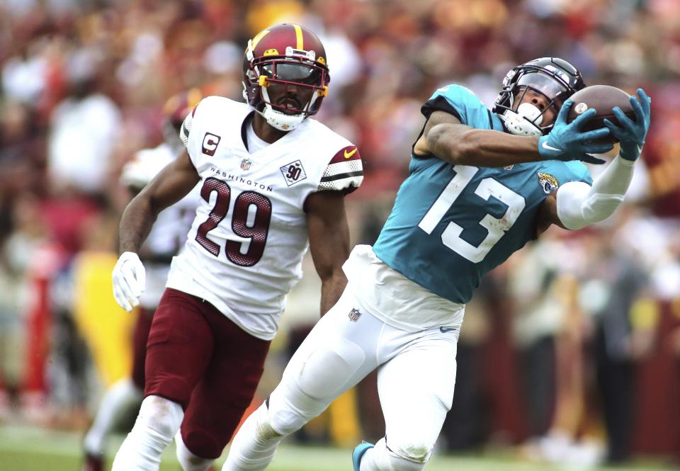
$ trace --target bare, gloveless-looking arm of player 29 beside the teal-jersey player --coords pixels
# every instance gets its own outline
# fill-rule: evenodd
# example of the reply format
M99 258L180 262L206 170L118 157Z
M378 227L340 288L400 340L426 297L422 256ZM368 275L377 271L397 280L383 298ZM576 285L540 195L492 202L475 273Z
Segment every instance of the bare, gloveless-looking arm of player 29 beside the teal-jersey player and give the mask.
M344 195L339 191L312 193L305 201L310 254L321 278L321 315L340 299L347 278L342 264L349 256L349 227Z

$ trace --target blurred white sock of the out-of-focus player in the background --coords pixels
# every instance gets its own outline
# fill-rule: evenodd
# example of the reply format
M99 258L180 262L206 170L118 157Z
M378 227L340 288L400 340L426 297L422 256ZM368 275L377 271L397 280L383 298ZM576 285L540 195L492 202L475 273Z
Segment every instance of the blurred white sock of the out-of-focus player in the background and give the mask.
M139 407L144 392L130 378L125 378L109 387L101 398L92 426L85 435L83 448L91 455L104 452L104 441L113 426L132 407Z

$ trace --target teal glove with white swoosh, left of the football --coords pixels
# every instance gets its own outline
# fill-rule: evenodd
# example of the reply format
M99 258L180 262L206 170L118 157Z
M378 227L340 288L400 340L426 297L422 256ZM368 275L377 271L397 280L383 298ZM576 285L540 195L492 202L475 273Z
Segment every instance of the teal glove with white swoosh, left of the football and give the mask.
M545 160L582 160L590 164L604 164L604 160L590 154L604 154L614 148L613 144L595 142L607 137L610 130L606 127L594 131L582 131L581 128L592 118L596 110L591 108L578 118L567 124L567 115L574 102L567 100L555 118L555 125L550 134L538 139L538 154Z

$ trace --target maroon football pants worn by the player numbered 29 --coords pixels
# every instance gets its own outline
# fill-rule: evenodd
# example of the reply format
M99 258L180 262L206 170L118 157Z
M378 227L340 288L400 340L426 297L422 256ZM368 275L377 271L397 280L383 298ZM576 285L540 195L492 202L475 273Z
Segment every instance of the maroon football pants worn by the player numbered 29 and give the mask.
M145 397L181 404L191 453L217 458L255 394L269 341L251 336L210 302L165 290L147 342Z

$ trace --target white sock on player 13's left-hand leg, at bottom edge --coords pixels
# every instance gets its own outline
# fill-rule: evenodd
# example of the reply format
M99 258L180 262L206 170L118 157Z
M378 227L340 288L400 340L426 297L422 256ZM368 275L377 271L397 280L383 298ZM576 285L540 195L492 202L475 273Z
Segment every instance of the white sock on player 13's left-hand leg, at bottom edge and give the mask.
M269 424L266 403L246 419L232 441L222 471L262 471L274 458L284 436Z

